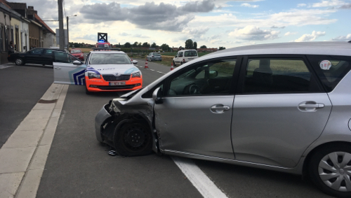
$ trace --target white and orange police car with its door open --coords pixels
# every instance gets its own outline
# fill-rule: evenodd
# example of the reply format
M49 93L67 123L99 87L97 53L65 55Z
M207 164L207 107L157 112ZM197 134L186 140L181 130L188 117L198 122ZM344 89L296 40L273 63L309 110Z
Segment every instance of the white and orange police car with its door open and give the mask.
M85 85L91 92L138 90L143 76L126 53L114 50L89 52L85 64L65 52L54 52L54 83Z

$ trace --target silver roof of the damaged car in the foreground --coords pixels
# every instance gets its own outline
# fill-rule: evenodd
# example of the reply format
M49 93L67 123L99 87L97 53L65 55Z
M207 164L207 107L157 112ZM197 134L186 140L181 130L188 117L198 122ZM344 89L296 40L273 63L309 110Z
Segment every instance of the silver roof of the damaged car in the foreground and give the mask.
M208 55L351 55L351 43L343 41L291 42L247 45ZM206 55L206 56L208 56Z

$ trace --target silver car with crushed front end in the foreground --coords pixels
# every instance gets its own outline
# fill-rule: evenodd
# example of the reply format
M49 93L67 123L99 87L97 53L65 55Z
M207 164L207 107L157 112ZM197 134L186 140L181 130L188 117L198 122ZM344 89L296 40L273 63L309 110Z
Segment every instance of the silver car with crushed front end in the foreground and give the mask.
M213 52L113 99L95 118L119 155L152 152L309 176L351 197L351 43Z

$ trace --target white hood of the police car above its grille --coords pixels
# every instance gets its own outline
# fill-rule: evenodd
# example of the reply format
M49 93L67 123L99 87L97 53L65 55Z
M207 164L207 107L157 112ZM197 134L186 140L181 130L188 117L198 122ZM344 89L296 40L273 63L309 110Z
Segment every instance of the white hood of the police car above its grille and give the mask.
M86 67L86 71L97 74L131 74L140 71L133 64L93 64Z

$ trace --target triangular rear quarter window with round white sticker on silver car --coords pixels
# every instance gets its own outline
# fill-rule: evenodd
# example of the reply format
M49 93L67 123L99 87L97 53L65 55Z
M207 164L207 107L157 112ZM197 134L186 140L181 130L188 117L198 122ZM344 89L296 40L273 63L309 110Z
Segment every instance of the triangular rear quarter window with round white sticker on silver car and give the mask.
M327 92L331 92L351 69L351 58L343 56L308 55Z

